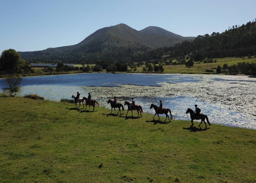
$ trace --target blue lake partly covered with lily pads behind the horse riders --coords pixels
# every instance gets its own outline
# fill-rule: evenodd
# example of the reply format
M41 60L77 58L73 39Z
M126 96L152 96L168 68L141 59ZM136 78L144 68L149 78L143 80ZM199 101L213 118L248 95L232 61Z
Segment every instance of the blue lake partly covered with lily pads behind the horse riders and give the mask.
M0 86L5 87L3 79ZM248 76L89 73L23 77L19 86L18 96L37 94L53 101L71 99L77 91L87 97L90 92L108 108L109 98L116 96L124 104L134 97L144 112L152 114L150 104L162 100L163 107L181 120L190 120L186 109L197 104L213 124L256 129L256 78Z

